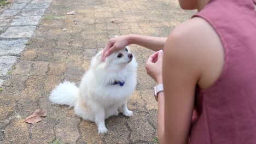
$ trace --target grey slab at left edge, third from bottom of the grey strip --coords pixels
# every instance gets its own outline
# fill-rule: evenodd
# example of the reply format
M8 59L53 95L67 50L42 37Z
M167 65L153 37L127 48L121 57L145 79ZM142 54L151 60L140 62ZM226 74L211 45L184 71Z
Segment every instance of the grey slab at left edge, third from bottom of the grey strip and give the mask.
M0 40L0 56L15 56L26 47L27 39Z

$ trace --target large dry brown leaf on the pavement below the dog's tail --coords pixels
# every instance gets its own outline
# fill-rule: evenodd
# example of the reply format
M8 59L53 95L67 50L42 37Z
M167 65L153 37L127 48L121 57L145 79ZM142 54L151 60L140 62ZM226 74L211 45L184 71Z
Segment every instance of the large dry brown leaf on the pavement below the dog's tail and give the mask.
M42 121L41 117L45 117L46 116L46 111L44 109L37 109L36 111L34 111L33 115L28 116L25 121L23 122L27 122L30 124L35 124L39 121Z

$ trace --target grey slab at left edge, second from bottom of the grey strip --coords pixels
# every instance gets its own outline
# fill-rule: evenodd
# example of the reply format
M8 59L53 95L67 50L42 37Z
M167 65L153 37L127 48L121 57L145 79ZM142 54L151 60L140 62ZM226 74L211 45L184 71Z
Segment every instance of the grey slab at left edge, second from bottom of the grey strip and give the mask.
M2 56L0 57L0 76L7 75L8 70L16 61L15 56Z

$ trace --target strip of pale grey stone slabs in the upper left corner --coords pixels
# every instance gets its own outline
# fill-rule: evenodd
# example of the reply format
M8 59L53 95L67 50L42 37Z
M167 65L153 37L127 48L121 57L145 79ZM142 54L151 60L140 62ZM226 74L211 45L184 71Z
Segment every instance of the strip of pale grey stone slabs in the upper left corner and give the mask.
M0 15L0 85L32 37L51 0L19 0Z

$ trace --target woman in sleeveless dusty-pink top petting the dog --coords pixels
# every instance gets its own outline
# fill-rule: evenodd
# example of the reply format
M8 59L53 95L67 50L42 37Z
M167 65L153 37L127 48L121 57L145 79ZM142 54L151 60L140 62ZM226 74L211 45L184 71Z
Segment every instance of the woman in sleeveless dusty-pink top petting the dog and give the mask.
M168 38L109 40L102 61L130 44L158 51L146 69L164 85L158 93L159 143L256 143L255 3L179 0L181 8L199 13ZM192 123L193 110L198 116Z

